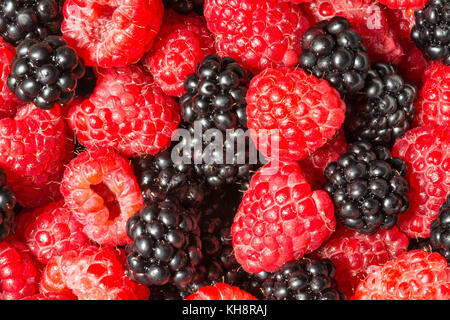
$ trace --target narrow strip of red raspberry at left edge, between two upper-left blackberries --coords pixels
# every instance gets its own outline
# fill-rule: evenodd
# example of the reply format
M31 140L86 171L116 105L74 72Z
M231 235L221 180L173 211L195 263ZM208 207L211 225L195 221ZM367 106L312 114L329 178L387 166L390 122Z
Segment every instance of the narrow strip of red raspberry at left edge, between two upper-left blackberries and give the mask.
M7 86L7 78L11 73L11 61L15 54L16 50L13 46L0 38L0 119L12 117L17 107L23 104Z

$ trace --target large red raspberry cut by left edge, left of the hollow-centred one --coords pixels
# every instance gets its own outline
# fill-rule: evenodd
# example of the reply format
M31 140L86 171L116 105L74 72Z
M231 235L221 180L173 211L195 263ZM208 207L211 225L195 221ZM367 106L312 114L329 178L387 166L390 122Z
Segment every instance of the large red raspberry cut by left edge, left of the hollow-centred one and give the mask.
M61 199L59 181L73 157L68 132L58 105L45 111L28 104L0 120L0 166L23 207Z

